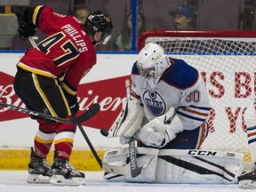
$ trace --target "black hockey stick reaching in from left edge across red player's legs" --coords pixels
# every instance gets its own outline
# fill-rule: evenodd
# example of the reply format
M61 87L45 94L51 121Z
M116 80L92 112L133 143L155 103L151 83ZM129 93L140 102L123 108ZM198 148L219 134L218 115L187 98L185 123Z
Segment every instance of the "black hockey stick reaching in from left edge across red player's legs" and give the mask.
M98 103L94 103L92 105L92 107L89 108L87 111L85 111L84 114L82 114L81 116L77 116L76 118L74 117L74 118L71 118L71 119L65 119L65 118L61 118L61 117L58 117L58 116L51 116L51 115L48 115L48 114L37 112L35 110L31 110L31 109L28 109L28 108L20 108L20 107L9 105L9 104L2 103L2 102L0 102L0 106L2 106L4 108L9 108L9 109L12 109L12 110L19 111L21 113L26 113L28 115L38 116L38 117L41 117L41 118L50 119L52 121L62 122L64 124L77 124L77 123L81 124L84 121L87 121L88 119L92 118L92 116L94 116L95 114L97 114L100 111L100 105Z

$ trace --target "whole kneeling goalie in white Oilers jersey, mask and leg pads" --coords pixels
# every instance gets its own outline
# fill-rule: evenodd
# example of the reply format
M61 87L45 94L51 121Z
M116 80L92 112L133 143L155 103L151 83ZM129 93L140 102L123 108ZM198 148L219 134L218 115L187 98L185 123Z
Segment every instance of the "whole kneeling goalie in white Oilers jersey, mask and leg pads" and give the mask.
M236 183L243 155L199 149L208 134L210 114L200 72L184 60L164 54L160 45L148 43L140 51L131 77L132 92L127 93L126 105L108 132L108 137L120 137L129 148L105 153L104 178ZM139 148L134 148L134 138L141 141Z

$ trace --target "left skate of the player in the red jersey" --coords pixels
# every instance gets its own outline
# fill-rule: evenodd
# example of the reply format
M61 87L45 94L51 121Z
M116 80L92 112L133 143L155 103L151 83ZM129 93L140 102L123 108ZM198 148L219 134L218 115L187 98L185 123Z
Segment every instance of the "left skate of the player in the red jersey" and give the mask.
M45 159L35 156L33 148L31 148L28 173L28 183L49 183L52 177L51 166L47 164Z

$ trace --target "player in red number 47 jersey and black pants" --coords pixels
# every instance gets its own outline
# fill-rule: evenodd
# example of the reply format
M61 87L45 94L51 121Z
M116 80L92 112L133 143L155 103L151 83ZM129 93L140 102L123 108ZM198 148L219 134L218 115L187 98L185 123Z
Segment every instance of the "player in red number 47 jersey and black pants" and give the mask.
M71 118L79 110L78 84L96 63L94 46L108 43L112 22L108 15L92 12L82 24L75 17L57 14L44 5L28 7L23 20L18 30L22 39L34 36L37 29L49 36L36 48L28 49L18 62L14 90L29 109ZM68 163L76 124L31 117L38 122L39 130L31 148L28 182L84 184L84 173ZM54 161L50 167L45 159L53 142Z

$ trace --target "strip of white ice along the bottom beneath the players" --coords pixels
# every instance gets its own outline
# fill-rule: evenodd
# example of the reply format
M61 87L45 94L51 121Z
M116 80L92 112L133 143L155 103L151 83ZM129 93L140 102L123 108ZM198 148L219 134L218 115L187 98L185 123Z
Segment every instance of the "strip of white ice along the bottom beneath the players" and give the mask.
M102 172L84 172L86 184L78 187L28 184L26 171L0 171L0 192L237 192L237 185L145 184L109 182Z

